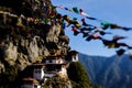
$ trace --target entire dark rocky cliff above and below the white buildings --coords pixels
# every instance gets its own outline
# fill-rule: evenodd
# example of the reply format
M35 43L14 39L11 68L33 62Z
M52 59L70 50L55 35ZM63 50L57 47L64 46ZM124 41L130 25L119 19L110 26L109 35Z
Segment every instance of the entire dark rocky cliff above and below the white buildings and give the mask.
M0 87L19 88L22 77L32 74L31 65L69 57L69 37L51 1L1 0L0 6ZM69 80L54 77L44 88L72 88Z

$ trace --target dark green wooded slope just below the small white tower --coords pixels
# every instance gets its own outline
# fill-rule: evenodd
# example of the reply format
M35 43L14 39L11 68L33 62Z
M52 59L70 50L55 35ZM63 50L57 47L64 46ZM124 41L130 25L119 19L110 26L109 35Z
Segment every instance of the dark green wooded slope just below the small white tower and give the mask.
M79 62L70 63L67 73L72 80L73 88L97 88L92 86L84 66Z

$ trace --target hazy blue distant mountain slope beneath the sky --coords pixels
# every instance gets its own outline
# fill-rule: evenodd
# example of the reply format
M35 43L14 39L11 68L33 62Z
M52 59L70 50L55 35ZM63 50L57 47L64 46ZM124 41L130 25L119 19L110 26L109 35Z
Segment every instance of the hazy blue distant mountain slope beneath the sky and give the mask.
M89 78L103 88L131 88L132 61L128 55L100 57L79 54Z

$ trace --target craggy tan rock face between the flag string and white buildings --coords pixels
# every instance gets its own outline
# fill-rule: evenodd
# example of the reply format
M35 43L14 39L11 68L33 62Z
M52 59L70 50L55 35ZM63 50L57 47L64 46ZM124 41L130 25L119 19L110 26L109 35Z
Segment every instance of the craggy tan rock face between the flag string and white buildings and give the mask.
M69 51L69 38L65 35L61 24L52 23L56 20L28 26L30 22L23 25L23 20L21 19L22 22L20 22L19 16L6 14L3 18L3 13L0 15L1 72L6 70L3 62L11 66L16 64L22 70L26 65L41 62L45 56L66 55Z

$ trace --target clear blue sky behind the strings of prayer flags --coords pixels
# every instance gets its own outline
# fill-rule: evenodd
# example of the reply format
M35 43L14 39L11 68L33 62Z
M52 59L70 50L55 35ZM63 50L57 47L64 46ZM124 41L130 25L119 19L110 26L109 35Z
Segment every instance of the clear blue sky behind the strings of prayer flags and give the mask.
M73 7L77 7L78 9L82 9L89 15L110 22L116 23L122 26L132 28L132 0L51 0L54 6L63 6L72 9ZM72 13L65 10L57 9L58 13L68 14L70 18L77 18L78 21L82 19L82 15L78 15L76 13ZM99 22L92 20L86 20L87 23L94 25L100 25ZM110 32L110 31L109 31ZM112 38L113 35L128 36L127 40L122 40L122 42L132 46L132 31L122 31L122 30L112 30L111 35L106 35L106 38ZM96 56L112 56L116 54L117 48L108 48L106 47L101 41L90 41L87 42L82 38L82 35L79 34L77 36L73 35L73 32L68 29L65 30L65 34L69 36L69 46L72 50L76 50L77 52L87 54L87 55L96 55ZM128 51L127 53L131 53Z

